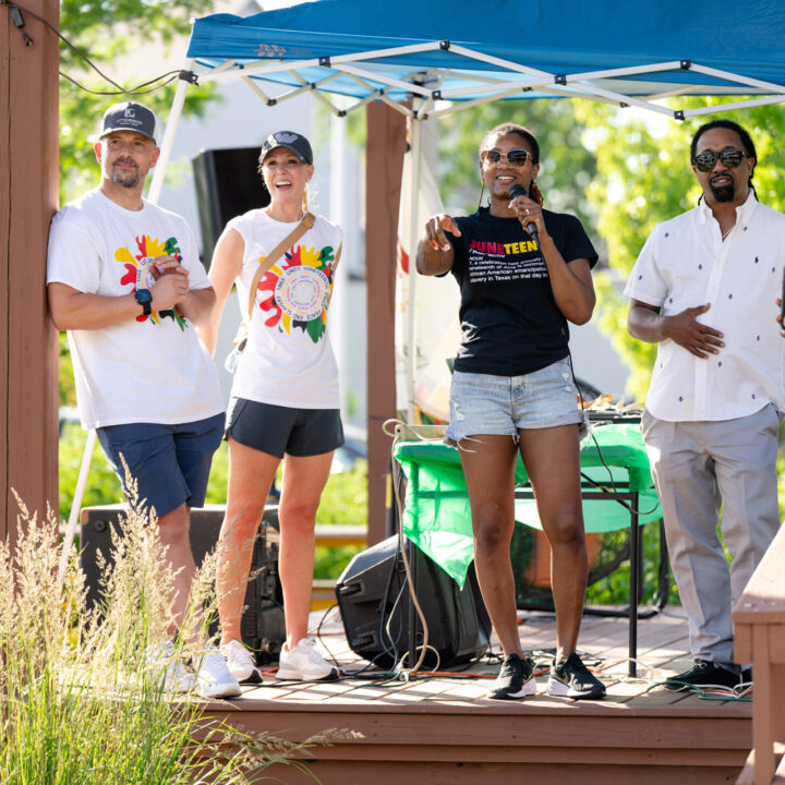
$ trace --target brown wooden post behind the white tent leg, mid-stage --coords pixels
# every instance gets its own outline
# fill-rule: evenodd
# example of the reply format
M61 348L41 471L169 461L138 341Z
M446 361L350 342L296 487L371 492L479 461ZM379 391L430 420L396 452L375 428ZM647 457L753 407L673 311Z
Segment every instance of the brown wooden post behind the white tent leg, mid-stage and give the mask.
M396 415L395 275L406 117L382 101L367 106L365 280L367 286L369 545L386 534L386 474Z

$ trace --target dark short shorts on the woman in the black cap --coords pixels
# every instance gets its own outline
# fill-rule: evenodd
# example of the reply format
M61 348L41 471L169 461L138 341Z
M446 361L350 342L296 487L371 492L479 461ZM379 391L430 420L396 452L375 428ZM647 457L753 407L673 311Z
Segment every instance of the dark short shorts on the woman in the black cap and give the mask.
M247 398L229 402L226 435L276 458L325 455L345 442L339 409L295 409Z

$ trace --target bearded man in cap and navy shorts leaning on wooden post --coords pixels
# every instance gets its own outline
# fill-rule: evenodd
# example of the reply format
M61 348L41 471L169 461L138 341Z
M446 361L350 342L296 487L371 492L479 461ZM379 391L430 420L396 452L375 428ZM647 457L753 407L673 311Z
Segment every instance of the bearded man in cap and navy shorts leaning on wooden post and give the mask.
M107 109L95 143L100 184L55 216L47 283L52 321L69 331L82 424L97 430L126 495L125 466L157 516L177 572L173 635L195 572L190 509L204 504L224 401L195 329L215 293L191 230L142 197L160 154L155 130L144 106ZM239 695L217 650L196 665L195 683L181 663L168 665L168 687Z

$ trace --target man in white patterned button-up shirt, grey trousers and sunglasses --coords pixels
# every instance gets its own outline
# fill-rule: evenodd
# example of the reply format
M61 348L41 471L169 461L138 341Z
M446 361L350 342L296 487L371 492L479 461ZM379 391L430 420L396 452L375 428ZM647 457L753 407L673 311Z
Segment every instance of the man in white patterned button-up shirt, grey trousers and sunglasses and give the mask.
M641 431L695 659L673 689L739 683L730 611L780 526L785 411L785 216L758 202L754 144L736 123L700 128L691 160L699 205L654 229L625 289L630 334L659 343Z

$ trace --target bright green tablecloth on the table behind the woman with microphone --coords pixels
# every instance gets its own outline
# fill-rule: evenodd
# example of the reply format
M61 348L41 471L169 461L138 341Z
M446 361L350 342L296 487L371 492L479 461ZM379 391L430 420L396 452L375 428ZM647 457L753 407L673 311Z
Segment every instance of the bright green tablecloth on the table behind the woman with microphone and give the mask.
M403 531L462 587L474 558L474 544L460 454L443 442L399 442L392 455L410 480ZM629 483L629 491L640 494L638 508L643 515L639 516L639 523L659 520L662 512L639 426L599 425L581 443L581 471L613 492L603 460L609 467L614 482L624 484L619 491L627 491ZM416 483L411 481L412 472L416 472ZM526 469L518 456L516 487L526 486L527 482ZM515 517L520 523L542 528L531 499L516 499ZM588 532L607 532L629 527L630 512L614 499L584 499L583 519Z

